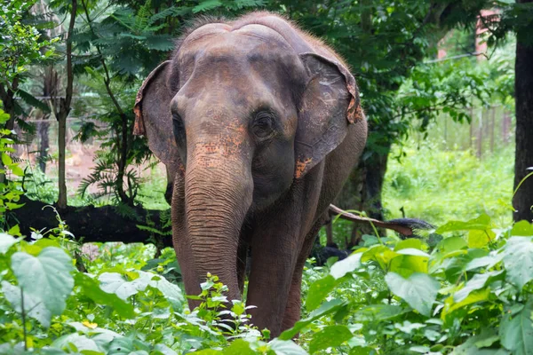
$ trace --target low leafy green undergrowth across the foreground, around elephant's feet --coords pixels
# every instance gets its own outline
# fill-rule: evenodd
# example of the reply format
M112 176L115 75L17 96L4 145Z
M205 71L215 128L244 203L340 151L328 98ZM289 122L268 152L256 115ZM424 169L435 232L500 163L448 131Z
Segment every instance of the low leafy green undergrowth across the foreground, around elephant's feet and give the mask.
M31 242L3 233L0 353L529 354L533 229L498 227L481 215L422 240L365 236L345 260L309 264L306 315L273 340L216 276L189 311L171 249L82 248L64 223Z

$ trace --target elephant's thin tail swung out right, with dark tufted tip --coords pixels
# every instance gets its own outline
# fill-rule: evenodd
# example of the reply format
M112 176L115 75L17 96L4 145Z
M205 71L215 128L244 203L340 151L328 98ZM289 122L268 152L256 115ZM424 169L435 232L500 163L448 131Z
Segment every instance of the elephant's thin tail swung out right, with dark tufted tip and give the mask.
M378 219L361 217L347 212L344 209L339 209L335 205L330 205L330 214L337 215L340 218L352 221L354 223L371 223L380 228L391 229L402 234L405 237L417 237L420 231L427 231L434 229L434 225L427 223L421 219L416 218L398 218L390 221L380 221Z

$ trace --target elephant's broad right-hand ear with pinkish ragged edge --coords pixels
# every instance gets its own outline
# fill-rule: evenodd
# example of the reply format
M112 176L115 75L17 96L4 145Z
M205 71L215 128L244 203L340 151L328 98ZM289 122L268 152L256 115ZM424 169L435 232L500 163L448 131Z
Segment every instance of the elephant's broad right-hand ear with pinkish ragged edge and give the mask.
M346 67L315 53L302 53L300 59L310 79L298 113L296 178L344 140L350 123L363 119L355 79Z

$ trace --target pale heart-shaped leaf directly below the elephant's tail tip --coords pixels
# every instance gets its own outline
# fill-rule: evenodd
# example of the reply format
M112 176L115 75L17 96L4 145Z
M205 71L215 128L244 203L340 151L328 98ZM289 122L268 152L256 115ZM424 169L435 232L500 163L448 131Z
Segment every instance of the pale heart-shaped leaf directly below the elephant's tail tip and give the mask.
M426 273L413 273L408 279L395 272L385 276L386 284L394 295L402 298L412 308L429 317L441 284Z

